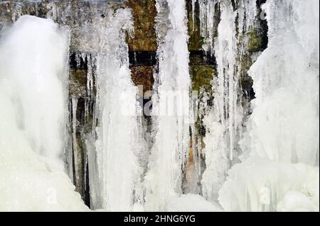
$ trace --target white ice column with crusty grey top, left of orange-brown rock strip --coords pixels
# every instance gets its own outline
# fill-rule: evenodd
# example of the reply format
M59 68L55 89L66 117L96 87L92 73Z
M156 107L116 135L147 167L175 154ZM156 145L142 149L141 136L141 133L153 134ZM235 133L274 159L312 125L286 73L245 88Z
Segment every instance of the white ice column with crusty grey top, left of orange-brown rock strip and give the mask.
M97 140L89 153L92 208L129 211L142 201L143 147L137 87L129 70L125 31L132 29L129 9L109 11L94 22L97 47ZM136 203L135 203L136 201Z

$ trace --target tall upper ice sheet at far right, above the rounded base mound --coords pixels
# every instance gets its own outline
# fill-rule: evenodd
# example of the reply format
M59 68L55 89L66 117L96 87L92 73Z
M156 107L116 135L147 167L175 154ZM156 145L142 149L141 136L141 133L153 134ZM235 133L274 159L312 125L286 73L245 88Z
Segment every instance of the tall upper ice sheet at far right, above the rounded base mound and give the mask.
M252 154L319 165L318 1L267 1L269 45L250 69ZM244 144L245 145L245 144Z

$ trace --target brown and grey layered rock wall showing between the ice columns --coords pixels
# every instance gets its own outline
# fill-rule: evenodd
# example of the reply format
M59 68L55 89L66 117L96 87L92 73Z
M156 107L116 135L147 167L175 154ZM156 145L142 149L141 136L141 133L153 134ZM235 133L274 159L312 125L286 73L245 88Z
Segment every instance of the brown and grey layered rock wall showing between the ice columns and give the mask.
M264 1L257 1L262 4ZM70 28L70 77L69 77L69 142L65 161L69 166L69 176L73 179L77 191L85 203L90 206L90 187L87 169L87 135L94 132L96 122L93 118L95 106L95 37L90 29L95 30L97 18L104 18L106 12L119 7L132 9L134 18L134 36L127 35L129 45L129 61L132 72L132 81L136 86L143 86L144 93L152 91L154 85L154 72L158 68L156 59L157 43L155 31L156 18L155 0L113 0L92 3L84 0L67 1L0 1L0 37L1 30L10 25L19 16L29 14L41 18L52 18L61 26ZM203 51L204 37L201 37L200 9L198 1L193 5L192 0L186 0L188 10L188 49L190 52L190 75L192 89L198 91L200 109L203 104L212 106L211 81L217 75L215 57ZM218 11L219 9L217 9ZM218 28L216 15L215 30ZM93 25L93 26L92 26ZM90 26L90 29L88 29ZM215 36L217 34L215 33ZM241 58L242 76L240 86L244 95L244 104L254 98L252 79L247 70L252 65L252 57L267 46L267 24L261 21L258 29L250 31L249 48L247 54ZM208 96L204 96L204 91ZM144 102L146 102L145 100ZM205 103L206 102L206 103ZM202 139L206 135L203 127L204 113L198 115L193 134L193 142L203 147ZM146 115L147 125L151 125L151 118ZM149 128L150 130L150 128ZM194 155L195 144L191 145L191 155ZM193 154L192 154L193 153ZM200 155L201 153L197 153ZM203 158L203 155L202 157ZM194 160L191 158L191 160ZM201 162L201 160L198 160ZM202 164L202 168L205 166ZM203 169L202 169L203 171Z

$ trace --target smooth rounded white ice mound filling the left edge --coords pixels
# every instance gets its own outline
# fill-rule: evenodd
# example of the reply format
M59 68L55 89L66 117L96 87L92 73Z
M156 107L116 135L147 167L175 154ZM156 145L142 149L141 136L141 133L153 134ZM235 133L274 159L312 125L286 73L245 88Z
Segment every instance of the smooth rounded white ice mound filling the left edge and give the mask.
M87 210L63 171L68 32L22 16L0 41L0 210Z

